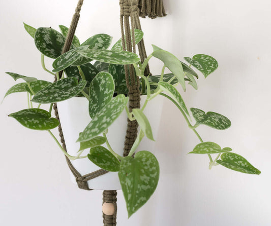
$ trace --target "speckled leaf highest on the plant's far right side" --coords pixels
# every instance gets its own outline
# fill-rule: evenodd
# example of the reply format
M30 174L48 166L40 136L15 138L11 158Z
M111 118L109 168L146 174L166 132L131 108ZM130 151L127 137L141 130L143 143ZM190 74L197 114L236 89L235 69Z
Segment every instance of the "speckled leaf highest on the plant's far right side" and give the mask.
M193 56L193 59L190 57L184 57L185 60L196 67L201 73L203 73L206 78L210 73L213 73L218 68L218 62L214 57L197 54Z

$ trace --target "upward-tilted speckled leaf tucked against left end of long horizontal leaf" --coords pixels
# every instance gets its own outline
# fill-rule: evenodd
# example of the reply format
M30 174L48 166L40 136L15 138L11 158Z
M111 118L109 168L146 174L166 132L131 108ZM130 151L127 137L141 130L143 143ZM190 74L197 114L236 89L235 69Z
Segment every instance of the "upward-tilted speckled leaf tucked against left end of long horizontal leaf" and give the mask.
M73 65L73 63L81 57L78 51L86 50L88 46L80 46L69 50L68 52L62 54L61 56L57 57L53 62L53 72L58 72L64 70L65 68Z

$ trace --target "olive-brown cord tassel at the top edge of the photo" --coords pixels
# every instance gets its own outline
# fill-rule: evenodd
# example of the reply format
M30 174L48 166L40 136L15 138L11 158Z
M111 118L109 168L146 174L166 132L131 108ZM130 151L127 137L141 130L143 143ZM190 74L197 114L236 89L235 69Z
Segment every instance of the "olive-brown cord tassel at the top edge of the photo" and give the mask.
M163 0L138 0L139 16L145 18L166 16Z

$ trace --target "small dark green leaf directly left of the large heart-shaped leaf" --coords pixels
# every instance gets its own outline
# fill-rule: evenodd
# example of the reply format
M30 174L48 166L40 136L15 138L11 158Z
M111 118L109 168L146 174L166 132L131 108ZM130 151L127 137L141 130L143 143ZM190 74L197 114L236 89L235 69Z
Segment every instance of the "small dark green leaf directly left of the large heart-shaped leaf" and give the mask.
M87 157L95 165L101 167L104 170L110 172L117 172L119 170L118 159L103 146L91 148L91 151L89 152Z

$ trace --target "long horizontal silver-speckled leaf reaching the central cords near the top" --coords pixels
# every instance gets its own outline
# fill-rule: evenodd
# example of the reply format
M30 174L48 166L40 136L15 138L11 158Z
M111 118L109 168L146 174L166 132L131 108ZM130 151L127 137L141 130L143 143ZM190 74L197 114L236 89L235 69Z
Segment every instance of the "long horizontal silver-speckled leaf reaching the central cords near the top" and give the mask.
M135 53L118 50L80 50L78 51L82 56L105 63L112 64L133 64L140 59Z

